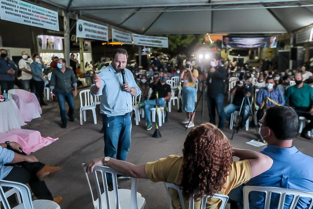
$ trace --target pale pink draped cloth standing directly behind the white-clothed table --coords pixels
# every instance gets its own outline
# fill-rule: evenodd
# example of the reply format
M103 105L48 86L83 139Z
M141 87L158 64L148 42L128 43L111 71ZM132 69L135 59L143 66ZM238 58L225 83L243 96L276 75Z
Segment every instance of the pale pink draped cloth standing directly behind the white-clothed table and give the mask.
M42 110L35 94L23 89L11 89L8 95L14 99L24 121L41 117Z

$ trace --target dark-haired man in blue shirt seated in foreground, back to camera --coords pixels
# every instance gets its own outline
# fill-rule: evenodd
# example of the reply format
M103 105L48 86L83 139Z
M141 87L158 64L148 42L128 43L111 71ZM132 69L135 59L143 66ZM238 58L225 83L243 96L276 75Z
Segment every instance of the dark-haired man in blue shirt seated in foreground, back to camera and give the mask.
M298 130L298 115L290 107L274 106L267 109L259 121L260 135L268 143L260 153L273 159L272 167L251 178L247 186L268 186L313 192L313 158L301 153L292 145ZM243 186L228 194L231 209L243 208ZM270 207L277 208L279 194L271 195ZM285 207L289 208L293 196L286 196ZM264 208L265 194L250 192L249 208ZM308 208L309 198L300 198L296 208ZM284 208L285 208L284 207Z

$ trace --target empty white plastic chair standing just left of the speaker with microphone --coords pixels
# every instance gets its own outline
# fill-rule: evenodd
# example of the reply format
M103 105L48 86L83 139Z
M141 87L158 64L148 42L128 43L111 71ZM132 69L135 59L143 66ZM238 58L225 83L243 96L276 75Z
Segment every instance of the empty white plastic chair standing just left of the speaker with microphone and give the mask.
M84 98L83 98L84 94ZM86 110L92 110L92 115L94 117L94 123L97 124L96 108L93 97L90 94L90 89L82 90L79 93L80 97L80 125L83 125L83 116L84 121L86 121ZM83 102L84 99L84 102Z

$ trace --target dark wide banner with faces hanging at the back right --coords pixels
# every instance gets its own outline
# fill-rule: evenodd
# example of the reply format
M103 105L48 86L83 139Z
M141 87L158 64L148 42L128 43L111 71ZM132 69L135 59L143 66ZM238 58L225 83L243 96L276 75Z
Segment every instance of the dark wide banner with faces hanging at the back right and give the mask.
M231 36L223 35L222 48L276 48L277 35L272 36Z

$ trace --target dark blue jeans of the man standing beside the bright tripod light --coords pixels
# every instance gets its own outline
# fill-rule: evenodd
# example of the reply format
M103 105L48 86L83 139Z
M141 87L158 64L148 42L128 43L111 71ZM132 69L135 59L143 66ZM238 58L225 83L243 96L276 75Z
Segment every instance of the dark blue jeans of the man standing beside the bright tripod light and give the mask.
M223 129L225 123L224 94L207 95L210 123L215 125L215 108L218 114L218 128Z

